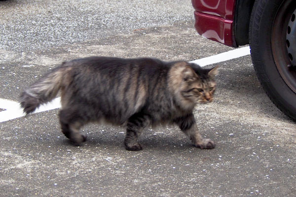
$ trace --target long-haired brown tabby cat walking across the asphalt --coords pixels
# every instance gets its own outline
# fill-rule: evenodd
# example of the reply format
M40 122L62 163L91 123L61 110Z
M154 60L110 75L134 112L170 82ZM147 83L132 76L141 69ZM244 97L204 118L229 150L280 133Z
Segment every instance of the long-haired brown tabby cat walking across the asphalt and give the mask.
M79 146L86 136L79 128L90 122L127 127L127 150L142 150L138 138L148 126L176 124L201 149L215 143L200 135L193 109L213 101L218 66L205 69L185 61L152 58L88 57L63 62L24 90L26 114L61 93L62 132Z

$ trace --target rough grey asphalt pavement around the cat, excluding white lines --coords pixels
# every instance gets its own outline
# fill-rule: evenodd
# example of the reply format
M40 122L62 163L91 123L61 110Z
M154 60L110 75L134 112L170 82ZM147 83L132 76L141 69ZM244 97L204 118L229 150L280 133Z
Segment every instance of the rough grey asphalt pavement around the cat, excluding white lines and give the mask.
M232 48L193 28L183 0L0 1L0 99L65 60L87 56L186 60ZM218 89L194 115L212 150L174 126L146 129L143 151L124 149L125 128L88 125L72 146L58 109L0 122L1 197L295 197L296 124L265 95L250 55L217 63ZM0 113L6 111L0 104Z

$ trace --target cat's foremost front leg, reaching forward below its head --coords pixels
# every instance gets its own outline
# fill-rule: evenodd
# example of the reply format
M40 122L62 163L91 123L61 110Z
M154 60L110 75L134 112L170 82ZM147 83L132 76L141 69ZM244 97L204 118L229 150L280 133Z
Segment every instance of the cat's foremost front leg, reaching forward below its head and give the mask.
M201 149L215 148L215 143L211 139L204 139L200 135L192 113L177 118L174 122L180 127L181 131L189 137L194 146Z

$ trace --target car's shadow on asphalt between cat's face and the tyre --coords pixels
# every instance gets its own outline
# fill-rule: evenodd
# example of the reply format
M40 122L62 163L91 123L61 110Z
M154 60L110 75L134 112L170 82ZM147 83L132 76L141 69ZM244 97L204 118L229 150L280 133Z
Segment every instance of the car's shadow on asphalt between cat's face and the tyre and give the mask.
M243 58L248 66L241 66L239 62L237 65L231 65L231 68L221 66L219 76L217 76L219 99L221 101L235 100L234 104L241 103L242 107L250 106L250 110L253 112L269 114L277 119L290 121L291 119L282 113L265 94L253 68L251 58L249 56ZM225 91L228 94L224 94Z

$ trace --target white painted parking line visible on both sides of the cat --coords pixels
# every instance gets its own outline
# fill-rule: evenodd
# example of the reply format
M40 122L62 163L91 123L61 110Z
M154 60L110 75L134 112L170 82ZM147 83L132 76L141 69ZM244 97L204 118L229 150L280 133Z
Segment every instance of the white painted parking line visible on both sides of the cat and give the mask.
M250 55L249 46L234 49L234 50L213 55L207 58L194 60L194 61L191 61L190 63L195 63L195 64L198 64L199 66L207 66L207 65L217 64L227 60L243 57L246 55ZM29 66L31 65L28 65L28 67ZM53 99L51 102L45 105L41 105L34 113L48 111L48 110L52 110L60 107L61 107L61 98L59 97L59 98ZM0 99L0 108L6 109L5 111L0 111L0 123L25 116L25 114L23 113L23 109L20 108L20 104L12 100Z

